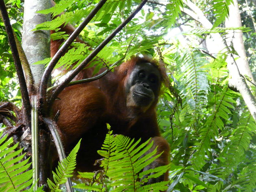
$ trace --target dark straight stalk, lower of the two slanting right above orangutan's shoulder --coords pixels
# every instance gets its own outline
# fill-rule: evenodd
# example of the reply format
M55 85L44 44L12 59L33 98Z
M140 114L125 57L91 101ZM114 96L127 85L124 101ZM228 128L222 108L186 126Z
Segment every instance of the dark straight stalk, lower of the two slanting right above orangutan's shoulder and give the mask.
M85 58L85 60L82 61L82 63L80 63L80 65L78 65L78 67L76 69L74 69L74 71L72 71L72 73L54 90L52 96L49 99L47 108L49 106L52 105L53 101L56 99L56 97L59 95L59 93L61 93L61 91L63 90L63 88L65 88L65 86L80 72L82 71L82 69L84 69L84 67L103 49L103 47L109 42L111 41L111 39L113 39L115 37L115 35L121 31L124 26L126 26L126 24L128 24L128 22L130 22L130 20L132 20L132 18L142 9L142 7L144 6L144 4L147 2L148 0L143 0L141 2L141 4L137 7L137 9L135 9L135 11L133 11L126 20L124 20L124 22L122 22L117 28L115 28L115 30L106 38L104 39L104 41L102 41L100 43L100 45L98 47L95 48L95 50L93 50L93 52L91 52L91 54L89 54L89 56L87 56L87 58Z

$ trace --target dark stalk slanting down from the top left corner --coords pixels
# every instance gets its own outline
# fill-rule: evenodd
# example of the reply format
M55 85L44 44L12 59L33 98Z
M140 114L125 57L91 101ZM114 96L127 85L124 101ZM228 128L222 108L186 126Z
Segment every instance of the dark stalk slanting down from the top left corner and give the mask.
M11 47L11 52L13 54L14 65L15 65L18 80L20 83L20 91L22 94L22 101L23 101L23 106L24 106L24 114L25 114L26 123L29 123L30 122L31 106L30 106L30 101L29 101L29 96L28 96L28 89L27 89L27 85L26 85L26 80L24 78L24 73L22 71L22 65L20 62L19 53L18 53L17 46L15 43L13 29L11 27L11 23L10 23L8 13L7 13L5 4L4 4L4 0L0 0L0 10L2 13L3 20L4 20L4 25L6 28L8 40L9 40L10 47Z

